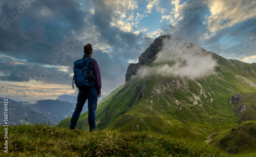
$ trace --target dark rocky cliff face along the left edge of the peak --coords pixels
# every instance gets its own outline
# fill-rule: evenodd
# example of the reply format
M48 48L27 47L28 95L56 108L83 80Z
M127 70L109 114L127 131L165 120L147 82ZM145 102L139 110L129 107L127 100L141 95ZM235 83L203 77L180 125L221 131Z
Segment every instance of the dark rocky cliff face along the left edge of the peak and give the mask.
M158 49L162 44L162 38L163 37L155 39L155 41L150 45L150 47L147 48L146 51L140 55L138 63L131 63L128 66L125 74L125 89L132 84L131 78L133 75L136 75L138 69L143 65L150 64L151 59L158 53Z

